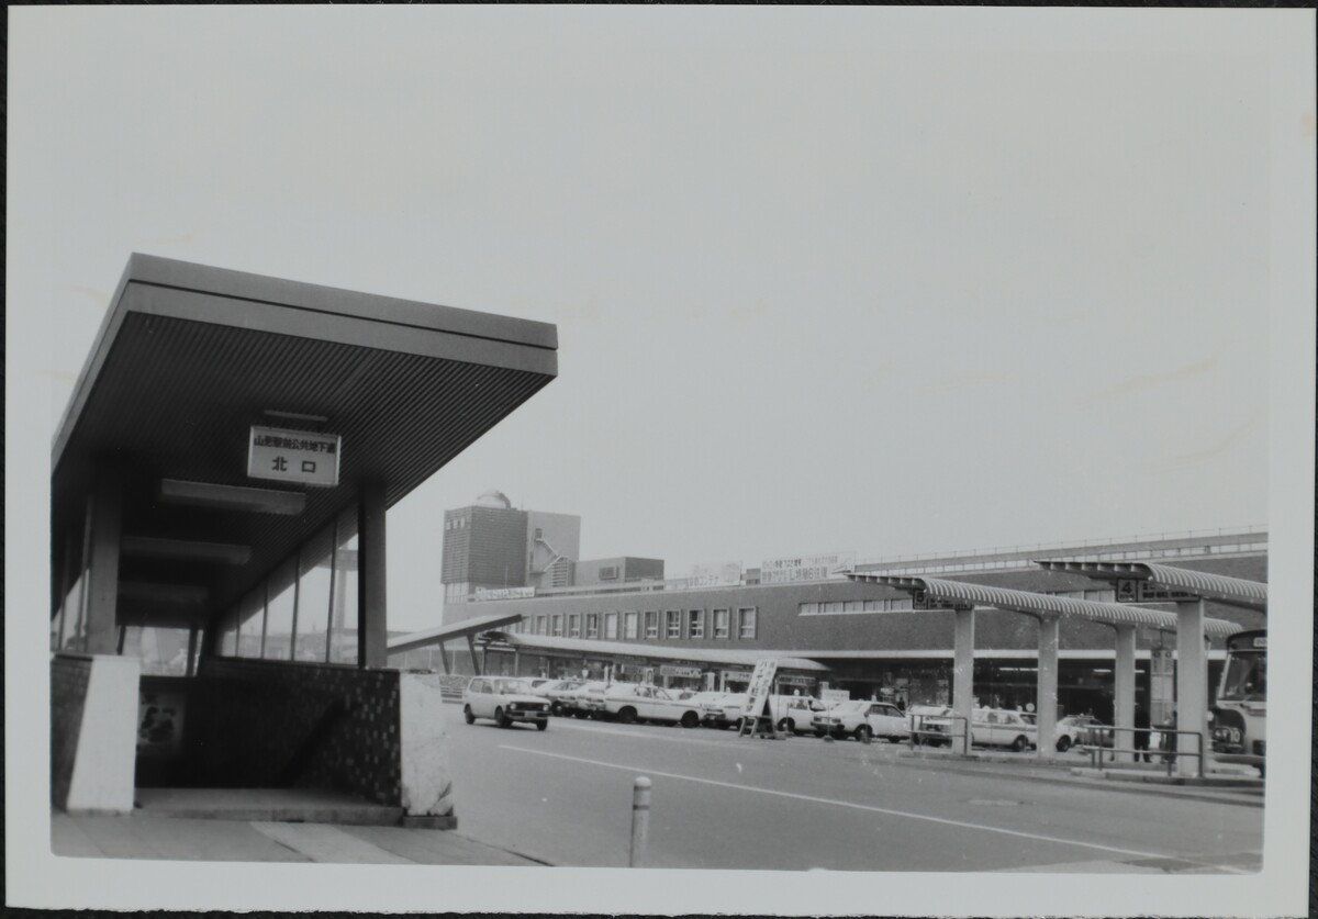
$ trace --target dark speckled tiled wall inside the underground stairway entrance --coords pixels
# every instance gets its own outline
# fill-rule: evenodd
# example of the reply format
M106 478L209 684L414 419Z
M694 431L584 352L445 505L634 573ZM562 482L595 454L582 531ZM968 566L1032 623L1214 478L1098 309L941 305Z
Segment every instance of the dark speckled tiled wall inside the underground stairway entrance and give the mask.
M395 670L203 658L188 706L182 783L402 801Z

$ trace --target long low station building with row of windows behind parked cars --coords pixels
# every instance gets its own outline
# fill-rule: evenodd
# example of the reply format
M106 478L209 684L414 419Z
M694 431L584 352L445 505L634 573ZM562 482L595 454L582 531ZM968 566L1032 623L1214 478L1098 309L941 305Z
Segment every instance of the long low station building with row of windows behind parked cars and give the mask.
M1095 582L1044 570L1044 561L1157 562L1265 582L1267 532L1075 542L1037 549L956 553L858 562L855 573L936 577L1060 598L1136 603L1172 610L1173 595L1141 582ZM804 569L808 571L808 569ZM782 573L779 573L782 574ZM767 578L766 578L767 579ZM762 583L758 569L738 583L692 586L680 579L536 590L534 595L448 607L445 624L505 620L484 635L478 654L451 658L438 648L394 656L399 666L550 677L610 674L692 689L742 689L754 661L778 657L780 690L818 694L846 690L853 698L890 698L908 704L946 704L952 689L954 614L921 610L911 594L878 583L826 574ZM1263 628L1264 614L1209 602L1205 615ZM1159 661L1176 648L1176 633L1136 631L1137 702L1149 706ZM1210 687L1224 657L1220 637L1209 652ZM1058 708L1112 718L1114 629L1099 621L1064 620L1058 635ZM1037 685L1037 627L1028 616L994 608L977 612L974 686L981 704L1024 707ZM1111 723L1111 722L1108 722Z

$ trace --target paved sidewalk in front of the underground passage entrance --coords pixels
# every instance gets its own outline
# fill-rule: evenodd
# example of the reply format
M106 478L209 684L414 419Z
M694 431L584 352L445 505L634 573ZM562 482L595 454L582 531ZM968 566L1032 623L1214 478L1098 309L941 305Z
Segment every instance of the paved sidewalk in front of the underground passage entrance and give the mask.
M179 816L50 815L50 849L75 858L543 865L456 831Z

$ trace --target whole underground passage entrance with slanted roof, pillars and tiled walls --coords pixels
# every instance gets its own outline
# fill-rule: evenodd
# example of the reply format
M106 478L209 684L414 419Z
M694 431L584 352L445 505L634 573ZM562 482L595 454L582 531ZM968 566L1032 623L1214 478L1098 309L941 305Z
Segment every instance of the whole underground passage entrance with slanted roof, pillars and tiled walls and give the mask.
M132 255L51 452L53 803L307 787L452 826L445 765L410 756L431 695L386 666L385 512L556 349L550 324ZM148 633L183 675L121 653Z

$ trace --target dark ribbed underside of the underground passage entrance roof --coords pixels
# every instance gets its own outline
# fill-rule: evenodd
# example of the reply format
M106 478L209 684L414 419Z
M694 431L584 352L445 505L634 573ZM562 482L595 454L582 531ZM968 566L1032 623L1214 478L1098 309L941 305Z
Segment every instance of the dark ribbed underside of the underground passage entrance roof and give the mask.
M206 536L253 546L235 590L291 552L351 502L362 479L387 483L397 503L552 375L336 344L163 316L129 313L54 470L57 532L80 525L91 460L128 477L124 531L181 536L187 513L156 506L161 478L304 490L298 517L195 512ZM328 417L324 424L265 411ZM249 428L343 436L340 485L302 488L246 475ZM161 531L161 532L154 532ZM183 537L190 536L182 533ZM192 536L198 538L199 536Z

